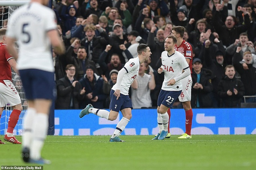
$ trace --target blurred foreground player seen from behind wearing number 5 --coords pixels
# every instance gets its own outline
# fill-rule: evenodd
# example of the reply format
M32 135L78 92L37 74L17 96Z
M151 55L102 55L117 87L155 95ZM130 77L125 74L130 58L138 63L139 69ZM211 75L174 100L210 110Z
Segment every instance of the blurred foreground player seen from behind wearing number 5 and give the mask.
M54 97L54 67L51 45L57 54L65 53L56 17L49 0L31 0L16 10L9 20L7 49L18 59L19 73L28 99L22 136L23 161L48 164L41 158L47 135L49 109ZM19 56L14 47L19 40Z

